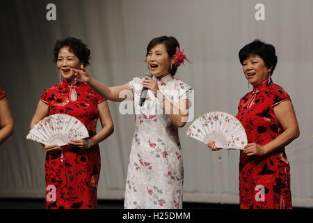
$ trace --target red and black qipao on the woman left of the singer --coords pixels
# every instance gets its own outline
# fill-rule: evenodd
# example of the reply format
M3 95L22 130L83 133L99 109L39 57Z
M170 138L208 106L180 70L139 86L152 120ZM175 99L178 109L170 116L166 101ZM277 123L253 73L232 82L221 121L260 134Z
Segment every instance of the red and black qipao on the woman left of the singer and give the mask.
M69 114L78 118L96 134L99 111L97 105L105 99L88 84L69 84L65 79L47 89L40 100L49 105L49 115ZM46 208L97 208L97 184L100 174L100 153L96 144L88 150L63 146L61 151L47 153L45 160ZM56 201L51 186L56 188ZM49 187L48 187L49 186ZM52 187L53 187L52 186Z

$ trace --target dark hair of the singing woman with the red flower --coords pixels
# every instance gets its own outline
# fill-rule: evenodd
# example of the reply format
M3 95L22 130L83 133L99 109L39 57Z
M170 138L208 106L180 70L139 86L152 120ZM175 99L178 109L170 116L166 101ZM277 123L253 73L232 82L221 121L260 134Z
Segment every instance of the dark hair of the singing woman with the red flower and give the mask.
M168 56L172 58L172 56L176 53L176 47L179 47L179 43L175 37L172 36L160 36L157 38L153 38L150 43L147 45L147 53L145 56L147 57L150 49L155 47L158 44L163 44L166 47L166 52L168 53ZM170 69L170 75L174 76L177 71L177 66L172 65L172 69Z

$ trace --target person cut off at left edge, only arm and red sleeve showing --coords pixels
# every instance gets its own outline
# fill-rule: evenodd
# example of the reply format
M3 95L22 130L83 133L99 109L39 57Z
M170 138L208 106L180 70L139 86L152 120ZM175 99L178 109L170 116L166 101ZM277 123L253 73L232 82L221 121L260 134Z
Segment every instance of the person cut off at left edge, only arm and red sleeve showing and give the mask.
M6 94L0 88L0 145L13 133L14 121L6 99Z

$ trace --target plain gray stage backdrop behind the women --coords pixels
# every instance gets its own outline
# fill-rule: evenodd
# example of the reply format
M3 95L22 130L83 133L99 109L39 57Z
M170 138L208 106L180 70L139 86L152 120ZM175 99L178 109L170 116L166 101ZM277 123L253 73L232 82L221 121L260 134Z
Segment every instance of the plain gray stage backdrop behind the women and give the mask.
M56 21L46 6L56 4ZM255 20L264 3L265 21ZM313 206L312 0L66 0L1 1L1 79L15 132L0 148L0 197L44 197L45 151L25 139L40 95L58 82L52 62L59 38L81 38L91 49L90 73L109 86L147 70L145 48L157 36L175 36L193 64L177 77L195 90L195 118L211 111L236 115L248 91L238 52L255 38L275 45L273 81L291 95L300 137L287 146L294 206ZM251 89L251 88L250 88ZM250 91L250 90L249 90ZM134 116L109 102L114 134L100 144L99 199L122 199ZM99 123L98 123L99 125ZM179 129L184 155L184 201L239 203L239 151L217 154Z

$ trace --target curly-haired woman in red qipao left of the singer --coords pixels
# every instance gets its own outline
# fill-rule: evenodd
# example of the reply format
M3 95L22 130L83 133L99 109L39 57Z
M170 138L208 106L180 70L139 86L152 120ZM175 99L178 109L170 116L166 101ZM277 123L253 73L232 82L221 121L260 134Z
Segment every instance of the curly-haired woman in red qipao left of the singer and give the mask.
M109 106L88 84L74 80L70 69L86 67L90 59L90 51L81 40L56 41L54 59L63 80L42 94L31 128L46 116L69 114L86 125L90 138L71 139L62 147L45 146L46 208L97 208L98 143L113 133ZM98 118L102 130L97 133Z

